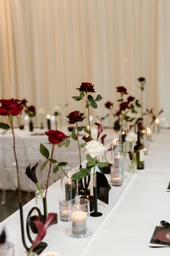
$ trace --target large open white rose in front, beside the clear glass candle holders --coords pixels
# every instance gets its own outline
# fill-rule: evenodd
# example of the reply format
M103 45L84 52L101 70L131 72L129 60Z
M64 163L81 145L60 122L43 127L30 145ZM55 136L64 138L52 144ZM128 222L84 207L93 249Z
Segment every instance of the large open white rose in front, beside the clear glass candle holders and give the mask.
M100 153L104 152L104 150L106 150L104 145L98 142L97 140L91 140L87 142L85 148L87 150L87 153L89 153L89 155L91 155L92 158L95 158L95 156L99 155Z

